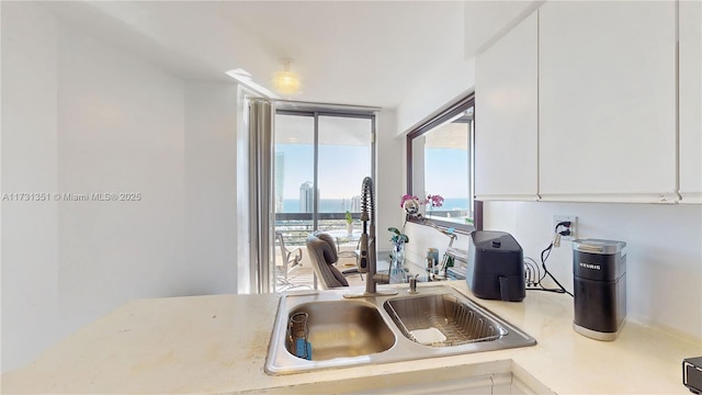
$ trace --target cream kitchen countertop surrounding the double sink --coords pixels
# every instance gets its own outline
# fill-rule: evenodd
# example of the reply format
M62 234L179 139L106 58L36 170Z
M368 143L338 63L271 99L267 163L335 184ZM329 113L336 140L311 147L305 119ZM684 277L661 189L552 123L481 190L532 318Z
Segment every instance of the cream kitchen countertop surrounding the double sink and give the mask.
M573 300L566 295L528 292L521 303L484 301L473 297L463 281L443 284L526 331L537 345L273 376L263 365L278 295L138 300L71 334L27 366L3 374L0 384L3 394L279 393L301 392L310 383L341 391L335 382L366 377L372 383L395 373L451 366L468 375L489 366L532 377L561 394L689 394L681 363L702 356L699 340L635 323L626 323L615 341L592 340L573 330ZM405 284L397 286L405 292Z

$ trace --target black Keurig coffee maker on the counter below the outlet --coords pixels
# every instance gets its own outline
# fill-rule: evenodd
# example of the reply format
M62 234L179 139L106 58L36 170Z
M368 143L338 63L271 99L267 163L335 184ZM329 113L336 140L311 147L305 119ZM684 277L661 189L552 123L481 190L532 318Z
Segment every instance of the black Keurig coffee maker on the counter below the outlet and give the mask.
M626 316L626 242L573 241L573 328L597 340L614 340Z

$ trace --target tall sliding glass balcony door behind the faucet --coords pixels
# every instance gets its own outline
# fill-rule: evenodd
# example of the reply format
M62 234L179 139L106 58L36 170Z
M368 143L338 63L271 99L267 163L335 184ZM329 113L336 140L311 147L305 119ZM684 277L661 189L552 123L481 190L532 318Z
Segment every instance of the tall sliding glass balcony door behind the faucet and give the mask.
M351 227L360 229L361 183L373 174L374 125L373 114L276 112L275 230L287 249L305 250L314 230L338 235L340 244L354 247L347 226L350 218ZM275 247L280 274L285 251Z

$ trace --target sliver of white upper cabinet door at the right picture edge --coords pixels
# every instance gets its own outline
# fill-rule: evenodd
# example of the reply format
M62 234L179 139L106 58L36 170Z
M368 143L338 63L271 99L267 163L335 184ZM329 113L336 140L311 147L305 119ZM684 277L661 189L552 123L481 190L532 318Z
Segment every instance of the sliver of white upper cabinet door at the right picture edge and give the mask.
M680 1L680 195L702 203L702 3Z

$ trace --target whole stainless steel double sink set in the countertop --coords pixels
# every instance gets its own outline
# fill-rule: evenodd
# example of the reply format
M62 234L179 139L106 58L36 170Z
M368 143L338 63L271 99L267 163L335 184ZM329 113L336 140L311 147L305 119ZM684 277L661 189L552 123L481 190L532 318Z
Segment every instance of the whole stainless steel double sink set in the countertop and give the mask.
M533 346L536 340L450 286L344 298L348 290L281 297L265 372L386 363Z

